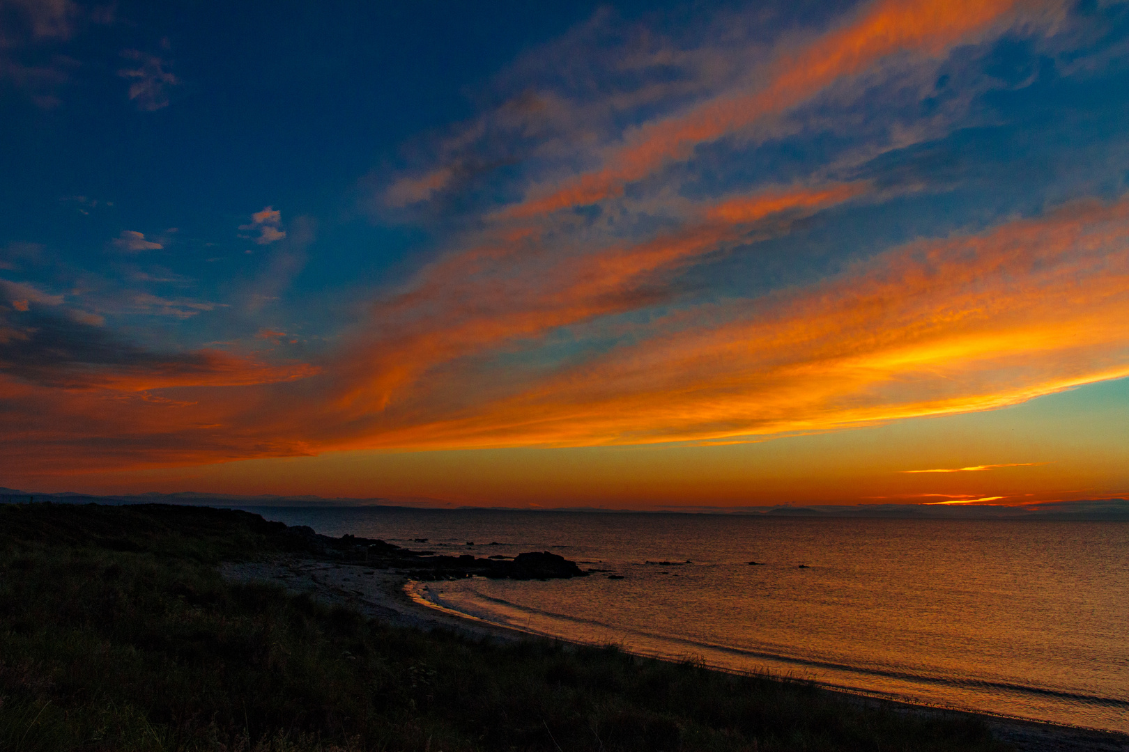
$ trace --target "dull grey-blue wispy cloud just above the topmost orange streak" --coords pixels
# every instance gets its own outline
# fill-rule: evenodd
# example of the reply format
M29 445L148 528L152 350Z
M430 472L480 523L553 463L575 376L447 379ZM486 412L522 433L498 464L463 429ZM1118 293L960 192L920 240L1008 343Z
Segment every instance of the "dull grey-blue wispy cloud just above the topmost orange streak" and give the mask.
M755 15L755 14L753 14ZM553 170L587 161L624 122L707 96L761 56L749 14L723 14L677 36L623 24L609 8L504 69L476 99L496 103L408 149L430 163L377 179L377 203L396 209L482 185L517 165ZM431 214L430 216L435 216Z

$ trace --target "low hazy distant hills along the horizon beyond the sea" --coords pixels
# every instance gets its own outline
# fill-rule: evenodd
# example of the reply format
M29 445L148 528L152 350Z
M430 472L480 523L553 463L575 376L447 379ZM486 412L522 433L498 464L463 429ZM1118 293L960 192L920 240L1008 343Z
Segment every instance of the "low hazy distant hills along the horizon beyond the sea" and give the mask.
M296 507L413 507L446 510L513 510L500 506L456 506L452 502L423 496L391 496L374 498L324 498L322 496L237 496L233 494L42 494L0 487L0 503L52 502L54 504L181 504L186 506L222 506L255 508L269 506ZM646 510L620 510L594 506L519 507L528 512L651 512L683 514L742 514L794 517L890 517L938 520L1124 520L1129 521L1129 499L1106 498L1079 502L1048 502L1026 506L994 504L926 505L926 504L819 504L806 506L656 506Z

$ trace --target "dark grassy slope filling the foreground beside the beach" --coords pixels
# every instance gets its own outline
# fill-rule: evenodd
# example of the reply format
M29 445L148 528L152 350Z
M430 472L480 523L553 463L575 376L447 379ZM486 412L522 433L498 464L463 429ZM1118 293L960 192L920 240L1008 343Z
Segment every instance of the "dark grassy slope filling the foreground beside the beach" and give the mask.
M966 717L392 629L217 572L295 547L245 512L0 505L0 750L1006 749Z

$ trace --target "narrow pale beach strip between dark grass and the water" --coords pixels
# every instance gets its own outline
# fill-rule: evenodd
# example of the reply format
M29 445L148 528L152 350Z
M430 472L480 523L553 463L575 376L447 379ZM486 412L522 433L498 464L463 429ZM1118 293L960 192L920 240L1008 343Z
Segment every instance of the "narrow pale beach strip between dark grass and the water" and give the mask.
M377 569L359 563L326 561L301 555L287 555L264 561L229 561L220 565L225 580L271 582L290 593L306 593L331 605L341 605L395 627L422 631L443 629L473 638L522 640L559 637L505 627L427 603L412 598L405 586L412 582L404 572ZM426 587L425 583L419 583ZM724 671L724 669L716 669ZM847 690L825 688L864 705L881 705L898 713L946 714L983 720L1003 741L1018 752L1129 752L1129 735L1082 726L1066 726L984 713L913 705Z

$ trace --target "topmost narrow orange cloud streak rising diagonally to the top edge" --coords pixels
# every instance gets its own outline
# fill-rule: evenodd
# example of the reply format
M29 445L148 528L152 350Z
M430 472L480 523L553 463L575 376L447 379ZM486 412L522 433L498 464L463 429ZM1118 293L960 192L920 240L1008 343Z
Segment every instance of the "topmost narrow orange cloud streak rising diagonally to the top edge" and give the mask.
M872 69L898 53L939 56L1051 2L1019 0L877 0L843 26L806 46L782 52L769 65L767 82L725 95L686 113L647 123L611 150L599 169L568 180L502 213L530 218L620 195L623 186L662 166L684 160L694 148L779 115L837 80Z

